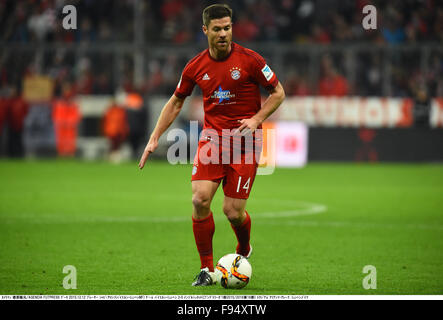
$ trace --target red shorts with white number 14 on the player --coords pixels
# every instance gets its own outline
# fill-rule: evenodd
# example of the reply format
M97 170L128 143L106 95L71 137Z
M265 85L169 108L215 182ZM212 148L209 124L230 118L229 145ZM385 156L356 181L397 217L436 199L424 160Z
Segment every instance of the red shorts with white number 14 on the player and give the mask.
M208 157L211 152L207 152L209 141L200 141L197 153L194 158L192 168L192 181L210 180L214 182L223 182L223 192L226 196L237 199L248 199L252 184L257 173L258 161L251 153L239 153L237 161L233 161L233 152L231 149L231 161L223 161L222 151L220 149L217 161L210 161ZM206 146L206 147L205 147ZM203 150L202 150L203 148ZM203 152L202 152L203 151ZM217 156L215 156L217 158ZM211 158L214 160L215 158ZM227 163L228 162L228 163Z

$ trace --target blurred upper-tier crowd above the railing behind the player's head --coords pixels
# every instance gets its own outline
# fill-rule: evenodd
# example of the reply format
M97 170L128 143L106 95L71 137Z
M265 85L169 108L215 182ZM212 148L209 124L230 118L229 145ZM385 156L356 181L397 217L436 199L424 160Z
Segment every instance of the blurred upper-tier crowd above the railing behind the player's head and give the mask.
M109 42L134 39L135 0L0 0L0 41ZM205 41L201 12L216 1L141 0L146 42ZM238 41L415 43L443 41L439 0L231 0ZM62 28L62 8L74 5L78 30ZM361 27L362 9L377 8L380 26Z

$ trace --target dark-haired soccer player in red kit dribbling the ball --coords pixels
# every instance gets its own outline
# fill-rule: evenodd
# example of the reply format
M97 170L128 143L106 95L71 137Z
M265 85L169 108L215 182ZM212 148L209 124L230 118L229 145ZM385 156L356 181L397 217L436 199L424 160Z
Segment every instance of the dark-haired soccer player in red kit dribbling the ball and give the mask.
M235 161L228 164L223 161L207 163L203 161L202 149L208 143L217 142L221 146L222 131L226 132L227 129L242 134L254 133L285 98L281 83L266 61L258 53L232 42L232 10L229 6L215 4L205 8L202 28L208 38L209 48L185 66L174 94L163 107L139 163L142 169L149 155L157 148L160 136L178 116L185 98L197 84L203 94L203 132L212 129L220 135L220 140L214 141L217 139L212 135L202 134L194 159L191 178L192 226L201 266L193 286L215 283L212 255L215 226L211 201L220 183L224 192L223 212L238 240L236 252L246 258L251 255L251 218L245 207L258 167L256 158L249 163L243 161L246 152L243 152L240 164ZM263 105L260 85L269 92Z

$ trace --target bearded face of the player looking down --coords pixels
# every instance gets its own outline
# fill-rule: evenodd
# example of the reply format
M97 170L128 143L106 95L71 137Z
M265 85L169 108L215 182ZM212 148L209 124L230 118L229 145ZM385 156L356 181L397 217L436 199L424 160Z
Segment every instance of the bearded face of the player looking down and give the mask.
M209 46L217 51L228 51L232 41L232 21L229 17L213 19L209 25L203 26L208 37Z

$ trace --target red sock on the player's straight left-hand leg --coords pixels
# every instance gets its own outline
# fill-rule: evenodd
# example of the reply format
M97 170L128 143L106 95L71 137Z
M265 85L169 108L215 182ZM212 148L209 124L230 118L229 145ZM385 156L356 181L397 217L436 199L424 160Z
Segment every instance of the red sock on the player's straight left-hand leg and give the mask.
M201 269L208 267L214 272L212 257L212 236L215 231L212 212L204 219L197 220L192 217L192 230L194 231L195 244L200 255Z

